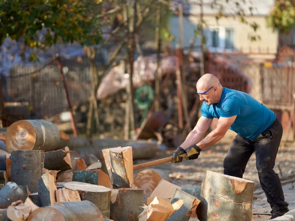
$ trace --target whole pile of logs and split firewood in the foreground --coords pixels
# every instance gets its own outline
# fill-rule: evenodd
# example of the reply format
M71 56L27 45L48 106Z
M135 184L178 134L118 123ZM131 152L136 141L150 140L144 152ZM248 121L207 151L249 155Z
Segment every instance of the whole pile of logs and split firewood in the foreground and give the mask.
M73 157L75 148L60 141L56 126L44 120L7 128L0 220L251 220L252 181L207 171L201 186L179 187L160 169L134 174L133 160L143 144L106 146L104 160L92 154L88 165L86 154Z

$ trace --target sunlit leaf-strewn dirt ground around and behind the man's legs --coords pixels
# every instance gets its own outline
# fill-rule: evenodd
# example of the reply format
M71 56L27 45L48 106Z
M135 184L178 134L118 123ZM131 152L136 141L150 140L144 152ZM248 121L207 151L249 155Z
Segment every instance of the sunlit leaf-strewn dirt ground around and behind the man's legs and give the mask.
M227 154L228 148L235 134L227 134L216 145L205 149L201 152L200 156L196 160L183 160L181 163L171 164L165 163L149 168L158 168L167 171L172 178L172 182L181 187L201 185L202 179L207 170L223 173L223 160ZM133 164L140 164L143 162L160 159L163 157L171 156L173 150L165 151L164 153L158 153L154 159L150 160L135 160ZM295 174L295 144L281 142L280 149L276 158L276 165L274 171L280 175L279 167L283 176ZM142 169L140 169L142 170ZM140 170L135 171L135 175ZM255 183L259 183L258 173L255 165L255 154L253 154L247 164L244 179L249 179ZM289 203L289 209L295 209L295 183L289 183L283 186L285 194L285 200ZM271 207L269 206L264 193L259 194L257 199L253 202L253 212L270 213ZM268 220L268 215L253 215L252 220L264 221ZM191 221L197 220L191 218Z

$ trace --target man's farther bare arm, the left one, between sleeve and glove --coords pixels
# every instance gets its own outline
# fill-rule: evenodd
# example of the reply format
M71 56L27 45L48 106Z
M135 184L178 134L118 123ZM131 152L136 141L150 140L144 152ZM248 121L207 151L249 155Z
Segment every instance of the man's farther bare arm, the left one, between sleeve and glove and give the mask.
M190 148L194 144L197 144L201 141L202 137L208 130L209 126L211 125L213 119L206 118L201 116L198 120L194 129L189 133L186 137L185 141L180 145L184 150Z

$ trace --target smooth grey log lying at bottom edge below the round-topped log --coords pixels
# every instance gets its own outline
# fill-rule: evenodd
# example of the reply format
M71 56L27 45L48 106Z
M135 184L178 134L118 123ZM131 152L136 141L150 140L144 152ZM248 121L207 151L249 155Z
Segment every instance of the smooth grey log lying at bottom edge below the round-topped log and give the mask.
M89 200L80 202L60 202L57 204L70 209L76 215L78 221L104 221L102 212Z

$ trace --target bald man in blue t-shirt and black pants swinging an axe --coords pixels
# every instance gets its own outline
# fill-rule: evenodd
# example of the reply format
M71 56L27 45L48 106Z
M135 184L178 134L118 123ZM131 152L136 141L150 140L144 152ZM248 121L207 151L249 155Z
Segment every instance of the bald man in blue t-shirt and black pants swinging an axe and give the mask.
M201 106L201 117L185 141L173 152L171 163L197 159L201 150L224 137L228 129L237 136L224 159L224 174L243 177L250 156L255 152L260 185L271 206L271 219L289 211L278 174L273 171L283 128L273 111L247 93L223 88L217 77L203 75L196 84ZM217 127L203 140L213 118Z

